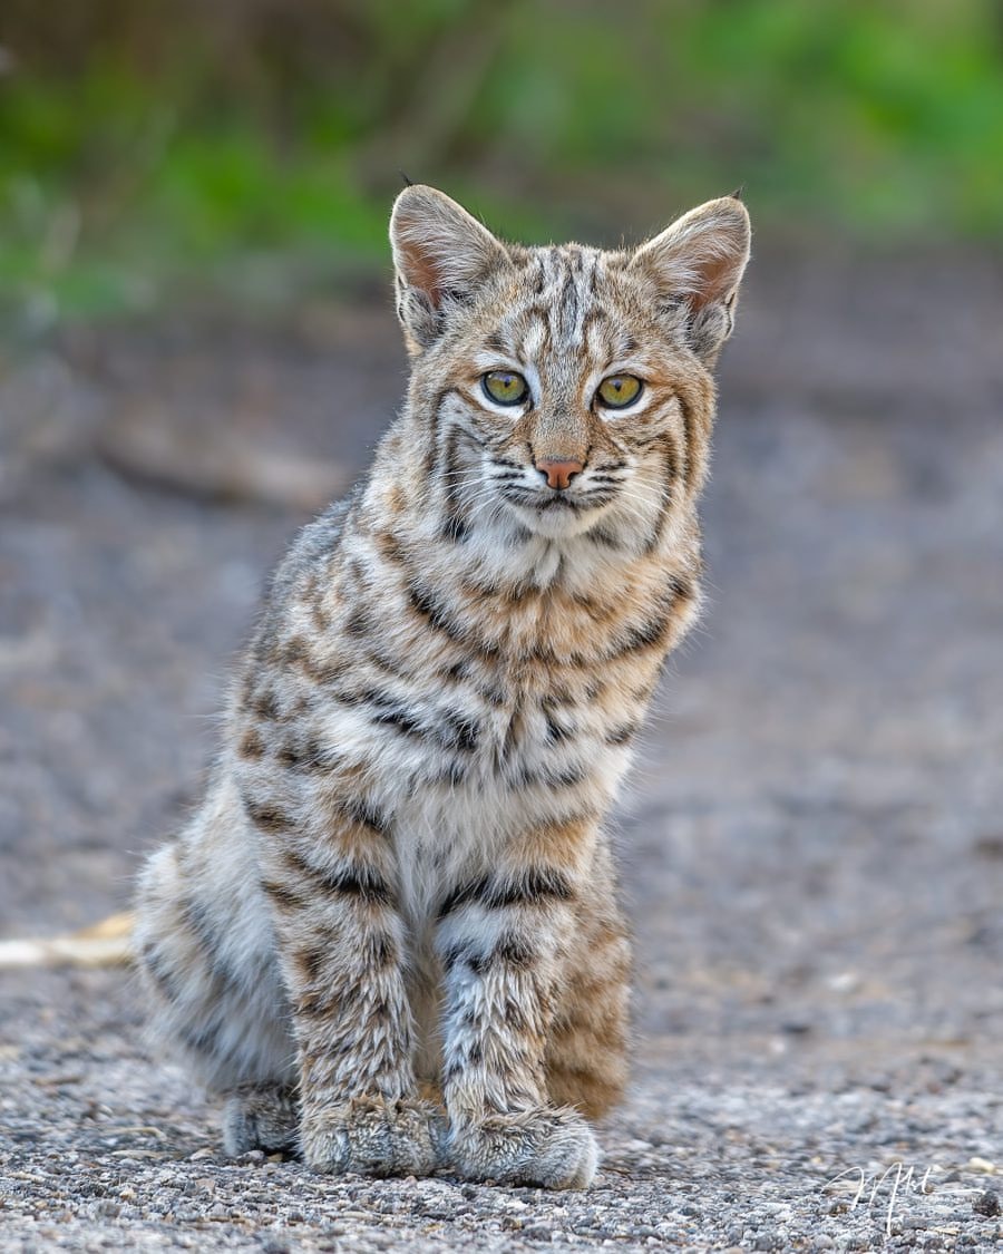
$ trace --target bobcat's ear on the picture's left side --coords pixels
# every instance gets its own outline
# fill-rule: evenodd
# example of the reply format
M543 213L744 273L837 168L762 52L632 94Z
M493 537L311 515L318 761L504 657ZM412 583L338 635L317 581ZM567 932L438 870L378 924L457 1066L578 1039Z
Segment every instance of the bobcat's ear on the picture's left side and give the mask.
M390 216L397 316L409 347L440 334L450 305L461 303L508 253L466 209L434 187L405 187Z

